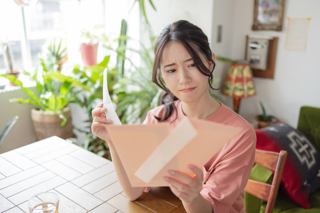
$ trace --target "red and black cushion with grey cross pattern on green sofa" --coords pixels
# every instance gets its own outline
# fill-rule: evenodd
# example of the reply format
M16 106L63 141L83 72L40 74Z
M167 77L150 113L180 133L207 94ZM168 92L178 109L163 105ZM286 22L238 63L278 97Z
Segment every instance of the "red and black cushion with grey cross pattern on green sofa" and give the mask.
M276 123L255 129L256 148L288 152L280 190L293 202L310 208L309 194L320 188L320 153L297 129Z

